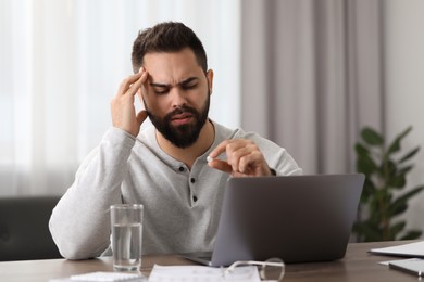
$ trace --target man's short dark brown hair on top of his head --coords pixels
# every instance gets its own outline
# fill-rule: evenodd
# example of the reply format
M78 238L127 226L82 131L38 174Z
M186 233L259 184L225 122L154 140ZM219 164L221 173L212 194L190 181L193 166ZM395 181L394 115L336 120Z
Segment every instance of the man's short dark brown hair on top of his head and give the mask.
M133 70L138 73L147 53L178 52L185 48L192 50L197 62L207 73L208 59L203 44L189 27L182 23L166 22L147 28L138 33L133 44Z

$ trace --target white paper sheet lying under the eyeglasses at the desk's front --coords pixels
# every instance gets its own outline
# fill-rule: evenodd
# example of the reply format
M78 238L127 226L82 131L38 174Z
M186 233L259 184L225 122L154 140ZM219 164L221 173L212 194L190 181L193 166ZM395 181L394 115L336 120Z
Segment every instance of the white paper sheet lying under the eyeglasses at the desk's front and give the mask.
M221 282L221 281L261 281L254 266L237 267L224 279L225 268L205 266L159 266L154 265L149 282Z

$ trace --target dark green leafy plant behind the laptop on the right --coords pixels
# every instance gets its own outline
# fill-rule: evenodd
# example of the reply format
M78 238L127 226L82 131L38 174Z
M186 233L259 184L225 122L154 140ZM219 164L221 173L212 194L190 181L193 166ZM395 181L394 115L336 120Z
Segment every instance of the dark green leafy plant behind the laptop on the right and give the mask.
M424 185L408 191L407 175L413 168L411 158L420 151L416 146L401 154L401 141L412 130L408 127L388 145L376 130L365 127L356 143L357 171L365 175L358 220L353 233L358 242L412 240L421 230L404 230L407 222L396 218L408 209L408 201Z

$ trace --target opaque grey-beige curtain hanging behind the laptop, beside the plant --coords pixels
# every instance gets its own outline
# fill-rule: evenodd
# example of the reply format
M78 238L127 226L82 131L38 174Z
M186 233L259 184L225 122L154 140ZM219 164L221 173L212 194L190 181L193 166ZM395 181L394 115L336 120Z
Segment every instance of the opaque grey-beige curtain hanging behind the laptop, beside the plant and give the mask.
M245 0L241 125L305 174L354 171L363 126L384 128L381 0Z

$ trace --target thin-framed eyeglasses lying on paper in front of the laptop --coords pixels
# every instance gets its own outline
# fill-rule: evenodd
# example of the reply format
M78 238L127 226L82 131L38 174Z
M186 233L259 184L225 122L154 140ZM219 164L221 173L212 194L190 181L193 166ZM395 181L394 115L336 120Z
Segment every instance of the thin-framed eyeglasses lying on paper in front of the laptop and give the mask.
M223 271L224 281L236 280L236 268L246 266L258 266L260 279L266 281L282 281L286 271L286 266L279 258L270 258L265 261L240 260Z

